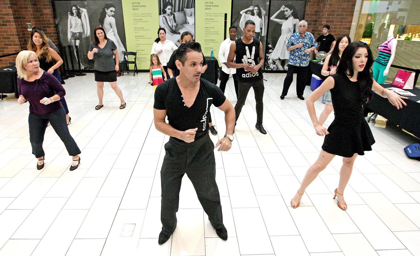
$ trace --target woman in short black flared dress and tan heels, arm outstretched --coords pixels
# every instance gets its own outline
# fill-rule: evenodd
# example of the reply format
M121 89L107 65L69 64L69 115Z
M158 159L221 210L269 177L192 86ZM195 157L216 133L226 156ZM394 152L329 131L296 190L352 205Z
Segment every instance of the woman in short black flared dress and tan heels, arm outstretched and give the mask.
M350 179L354 160L365 151L372 150L375 143L372 132L363 115L363 106L372 99L372 91L388 101L397 109L407 106L402 97L392 90L384 89L370 74L373 64L372 52L367 44L356 41L349 44L341 55L337 73L329 76L306 101L309 115L319 136L324 136L324 144L315 163L309 167L300 188L290 202L291 207L299 206L307 186L327 167L333 157L343 157L338 188L334 191L337 205L347 209L344 201L344 188ZM326 91L331 91L334 106L334 120L328 130L319 124L315 114L314 102Z

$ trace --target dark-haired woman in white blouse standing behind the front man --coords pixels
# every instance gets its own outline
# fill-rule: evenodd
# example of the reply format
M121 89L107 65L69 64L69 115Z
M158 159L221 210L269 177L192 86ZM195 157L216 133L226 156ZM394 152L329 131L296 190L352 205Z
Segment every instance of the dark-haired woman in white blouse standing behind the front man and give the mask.
M168 66L166 64L171 58L172 52L178 49L178 47L171 40L166 40L166 30L164 28L157 30L157 36L153 43L151 54L155 53L159 56L160 63L162 63L163 69L166 72L166 77L169 77Z

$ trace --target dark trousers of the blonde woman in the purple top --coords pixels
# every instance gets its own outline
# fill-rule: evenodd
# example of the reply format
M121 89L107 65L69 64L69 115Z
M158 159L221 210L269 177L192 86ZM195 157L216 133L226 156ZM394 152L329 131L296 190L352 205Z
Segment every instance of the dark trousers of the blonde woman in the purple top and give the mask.
M47 122L50 122L58 137L63 141L69 155L76 156L81 153L76 141L74 141L74 138L71 137L70 132L68 131L66 112L64 108L61 107L47 115L29 113L29 140L31 141L32 154L34 154L35 157L39 158L45 155L42 143L44 142Z

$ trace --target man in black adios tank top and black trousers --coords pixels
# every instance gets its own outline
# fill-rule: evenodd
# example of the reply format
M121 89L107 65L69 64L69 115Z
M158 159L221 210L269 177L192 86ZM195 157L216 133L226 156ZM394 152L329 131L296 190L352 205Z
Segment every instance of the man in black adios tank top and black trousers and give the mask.
M241 114L242 107L245 104L249 89L254 88L256 109L257 109L257 128L262 134L266 134L262 126L262 95L264 94L264 82L262 81L261 67L264 64L264 54L262 53L262 44L253 36L255 34L255 23L252 20L245 22L244 35L236 39L231 44L228 55L227 67L236 68L236 76L239 81L238 101L235 105L236 120ZM236 57L236 63L233 62Z

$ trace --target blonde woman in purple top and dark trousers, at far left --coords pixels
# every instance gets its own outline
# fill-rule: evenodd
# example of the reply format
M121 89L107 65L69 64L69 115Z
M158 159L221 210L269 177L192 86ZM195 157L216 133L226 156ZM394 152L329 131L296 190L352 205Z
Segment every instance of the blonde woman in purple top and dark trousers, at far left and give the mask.
M35 52L21 51L16 57L18 71L18 104L29 102L29 140L32 154L38 159L37 169L44 168L45 152L42 148L45 129L50 122L54 131L72 156L70 170L75 170L80 163L80 149L71 137L66 123L66 112L60 98L66 95L61 83L52 74L39 68Z

